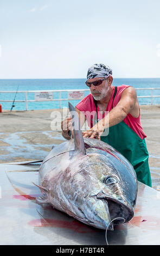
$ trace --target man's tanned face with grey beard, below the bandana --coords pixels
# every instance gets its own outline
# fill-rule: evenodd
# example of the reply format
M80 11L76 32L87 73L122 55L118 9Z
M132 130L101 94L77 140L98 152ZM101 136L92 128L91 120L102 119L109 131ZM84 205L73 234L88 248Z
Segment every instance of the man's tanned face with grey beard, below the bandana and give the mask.
M88 79L87 82L95 82L98 80L103 79L103 77L96 77ZM91 94L93 95L95 100L102 100L108 93L108 90L110 89L110 86L108 84L108 79L104 80L99 86L94 86L94 84L91 84L91 87L89 87L91 90Z

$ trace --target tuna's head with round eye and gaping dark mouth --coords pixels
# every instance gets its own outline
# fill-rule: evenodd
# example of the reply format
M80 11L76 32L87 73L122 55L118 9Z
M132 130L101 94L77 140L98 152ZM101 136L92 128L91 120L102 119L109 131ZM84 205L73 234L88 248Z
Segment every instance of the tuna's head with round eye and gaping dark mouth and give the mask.
M129 170L123 162L101 154L98 149L87 149L83 159L71 183L86 223L113 230L110 223L115 218L114 225L130 221L137 197L137 179L132 166Z

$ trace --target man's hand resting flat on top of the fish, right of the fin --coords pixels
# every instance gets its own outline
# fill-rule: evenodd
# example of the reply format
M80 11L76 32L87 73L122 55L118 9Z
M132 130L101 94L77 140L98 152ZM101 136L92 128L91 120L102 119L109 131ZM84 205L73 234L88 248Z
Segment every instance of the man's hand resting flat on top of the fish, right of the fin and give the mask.
M104 132L103 119L100 120L97 124L95 124L90 130L83 132L84 138L97 138L100 139L100 136Z

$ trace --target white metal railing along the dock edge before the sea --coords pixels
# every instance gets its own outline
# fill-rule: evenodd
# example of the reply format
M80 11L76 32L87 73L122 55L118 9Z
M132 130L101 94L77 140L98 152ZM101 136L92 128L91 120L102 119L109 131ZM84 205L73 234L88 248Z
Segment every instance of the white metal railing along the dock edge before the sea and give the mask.
M160 90L160 88L135 88L136 90L151 90L151 95L146 96L137 96L138 98L151 98L151 105L153 105L153 98L154 97L160 97L160 95L153 95L153 90ZM49 99L49 100L28 100L28 93L43 93L46 92L46 90L28 90L28 91L18 91L17 93L24 93L25 94L25 100L15 100L15 102L25 102L25 110L28 110L28 102L41 102L41 101L59 101L60 108L61 108L61 101L69 100L67 99L61 99L61 93L62 92L89 92L89 89L72 89L72 90L47 90L47 92L52 92L53 94L59 93L59 99ZM0 91L1 93L16 93L16 91ZM76 99L73 99L76 100ZM1 100L1 102L13 102L13 100Z

